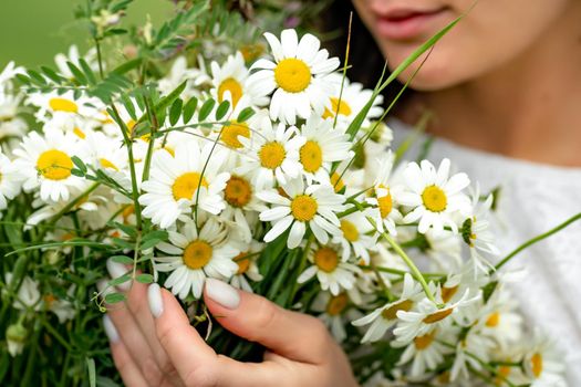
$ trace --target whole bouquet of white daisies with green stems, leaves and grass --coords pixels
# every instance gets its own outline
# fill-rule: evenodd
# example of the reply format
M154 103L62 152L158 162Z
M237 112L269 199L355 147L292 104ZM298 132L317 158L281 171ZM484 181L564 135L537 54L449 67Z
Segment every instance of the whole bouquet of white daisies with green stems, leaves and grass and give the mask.
M3 384L116 385L100 316L133 282L260 358L212 324L215 278L321 318L366 386L564 385L499 271L521 249L492 263L498 197L390 149L382 90L453 24L365 90L349 46L341 63L310 33L263 40L207 1L127 30L129 2L80 8L86 55L0 74Z

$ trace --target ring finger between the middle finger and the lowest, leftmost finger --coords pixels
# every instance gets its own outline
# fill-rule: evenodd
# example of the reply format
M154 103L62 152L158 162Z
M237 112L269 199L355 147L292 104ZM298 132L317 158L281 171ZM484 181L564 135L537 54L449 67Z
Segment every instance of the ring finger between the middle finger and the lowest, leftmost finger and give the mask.
M155 355L127 305L125 303L110 305L107 314L141 373L152 385L160 385L164 378Z

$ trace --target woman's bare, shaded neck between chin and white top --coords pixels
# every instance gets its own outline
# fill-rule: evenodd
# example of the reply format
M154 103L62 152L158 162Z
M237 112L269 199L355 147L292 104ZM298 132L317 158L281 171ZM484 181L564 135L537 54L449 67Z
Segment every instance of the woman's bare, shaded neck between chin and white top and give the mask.
M402 118L413 123L426 108L434 135L515 158L581 166L581 24L561 23L495 73L417 93Z

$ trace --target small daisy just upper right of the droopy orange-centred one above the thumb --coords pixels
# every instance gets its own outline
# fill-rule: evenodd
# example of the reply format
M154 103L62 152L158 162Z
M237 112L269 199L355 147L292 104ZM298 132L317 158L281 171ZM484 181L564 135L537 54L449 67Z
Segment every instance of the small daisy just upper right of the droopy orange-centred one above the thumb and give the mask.
M375 236L373 226L365 219L362 212L353 212L340 219L341 236L333 237L333 243L340 243L343 261L351 257L361 258L365 264L370 262L370 251L375 250ZM353 254L352 254L353 252Z

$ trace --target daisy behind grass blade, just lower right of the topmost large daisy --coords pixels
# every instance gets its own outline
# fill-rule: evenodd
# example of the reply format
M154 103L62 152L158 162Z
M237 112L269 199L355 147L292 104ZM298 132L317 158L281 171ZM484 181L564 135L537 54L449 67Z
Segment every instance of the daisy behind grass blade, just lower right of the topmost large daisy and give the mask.
M333 73L329 75L329 82L333 85L331 94L331 107L325 108L323 118L333 118L336 116L338 122L343 126L349 125L355 116L365 107L371 100L373 91L363 88L361 83L350 82L342 74ZM370 119L377 118L382 115L383 96L378 95L374 101L365 117L362 126L369 126Z

